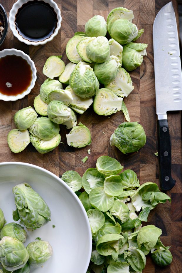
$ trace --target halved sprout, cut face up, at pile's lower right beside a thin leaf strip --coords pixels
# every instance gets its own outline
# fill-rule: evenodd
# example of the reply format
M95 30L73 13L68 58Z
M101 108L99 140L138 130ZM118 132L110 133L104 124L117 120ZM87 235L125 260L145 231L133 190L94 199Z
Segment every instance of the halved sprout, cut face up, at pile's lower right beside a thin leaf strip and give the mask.
M101 88L94 98L93 109L98 115L111 115L121 110L122 100L111 90Z

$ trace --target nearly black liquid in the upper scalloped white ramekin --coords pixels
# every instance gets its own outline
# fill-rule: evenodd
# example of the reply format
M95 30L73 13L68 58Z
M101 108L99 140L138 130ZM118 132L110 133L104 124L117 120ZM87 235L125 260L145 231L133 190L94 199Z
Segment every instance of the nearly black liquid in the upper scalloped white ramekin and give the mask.
M18 33L28 41L44 41L57 26L56 13L44 1L29 1L18 9L15 24Z

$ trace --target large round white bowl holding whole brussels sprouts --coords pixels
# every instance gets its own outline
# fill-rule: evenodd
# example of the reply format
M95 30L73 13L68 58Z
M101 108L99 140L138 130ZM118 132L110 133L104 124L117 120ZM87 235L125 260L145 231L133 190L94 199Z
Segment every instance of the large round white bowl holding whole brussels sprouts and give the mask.
M31 272L86 273L92 250L92 235L79 198L63 180L43 168L28 163L0 163L0 208L7 223L14 222L12 210L16 209L12 188L22 182L30 184L51 211L50 222L27 232L25 246L35 241L36 237L41 237L50 242L53 248L53 256L43 268L31 267ZM52 225L55 225L54 229Z

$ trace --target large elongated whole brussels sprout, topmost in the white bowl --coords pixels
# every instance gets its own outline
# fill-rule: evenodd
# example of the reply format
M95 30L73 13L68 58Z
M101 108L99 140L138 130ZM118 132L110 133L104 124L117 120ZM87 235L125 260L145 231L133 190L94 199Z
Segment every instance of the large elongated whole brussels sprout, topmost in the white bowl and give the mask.
M50 221L48 205L30 185L27 183L16 185L13 187L13 193L21 223L26 228L36 229Z

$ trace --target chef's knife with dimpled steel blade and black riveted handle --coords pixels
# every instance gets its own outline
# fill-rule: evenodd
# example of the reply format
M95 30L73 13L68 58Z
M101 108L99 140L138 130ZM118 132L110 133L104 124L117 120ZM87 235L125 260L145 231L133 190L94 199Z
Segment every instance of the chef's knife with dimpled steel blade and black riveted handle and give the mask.
M182 75L178 30L172 2L157 14L153 26L156 112L158 125L159 182L171 190L171 140L167 111L182 110Z

